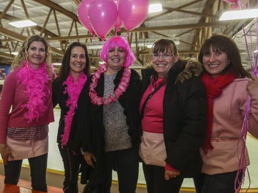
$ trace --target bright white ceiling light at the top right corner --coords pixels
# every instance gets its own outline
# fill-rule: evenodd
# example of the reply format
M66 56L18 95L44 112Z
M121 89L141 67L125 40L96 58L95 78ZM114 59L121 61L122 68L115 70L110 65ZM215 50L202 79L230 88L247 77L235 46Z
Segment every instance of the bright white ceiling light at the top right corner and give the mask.
M219 21L233 20L233 19L250 19L258 17L258 9L237 10L224 12L219 18Z

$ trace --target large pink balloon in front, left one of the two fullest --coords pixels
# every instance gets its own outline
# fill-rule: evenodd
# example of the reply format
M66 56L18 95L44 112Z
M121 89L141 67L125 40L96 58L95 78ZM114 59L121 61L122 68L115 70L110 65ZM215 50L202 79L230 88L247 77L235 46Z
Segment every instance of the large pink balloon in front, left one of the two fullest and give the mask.
M116 25L117 18L118 9L113 0L95 0L89 7L89 23L103 41Z

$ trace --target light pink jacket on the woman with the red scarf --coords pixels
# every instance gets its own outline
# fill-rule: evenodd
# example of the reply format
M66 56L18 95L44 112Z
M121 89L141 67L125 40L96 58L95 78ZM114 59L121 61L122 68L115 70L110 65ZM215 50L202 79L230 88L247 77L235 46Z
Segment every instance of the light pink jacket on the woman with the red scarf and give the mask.
M211 144L213 150L204 154L201 149L205 174L221 174L239 169L241 155L241 128L244 122L248 91L248 78L237 78L223 90L222 95L214 100L213 130ZM248 132L258 137L258 88L250 91L252 98L248 117ZM246 166L250 164L246 150Z

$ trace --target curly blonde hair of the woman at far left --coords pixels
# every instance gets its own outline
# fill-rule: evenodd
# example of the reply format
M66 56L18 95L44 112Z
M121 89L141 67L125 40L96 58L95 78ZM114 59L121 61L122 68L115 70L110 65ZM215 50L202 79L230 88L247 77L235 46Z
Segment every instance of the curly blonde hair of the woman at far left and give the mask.
M47 68L47 72L50 76L50 78L53 77L53 73L52 73L52 69L51 69L51 49L50 49L50 45L49 43L46 41L46 39L44 37L41 37L39 35L32 35L29 36L24 42L23 45L21 46L21 48L19 49L19 52L17 54L17 56L14 58L12 65L11 65L11 69L19 69L21 67L23 67L23 60L28 60L28 49L30 47L30 45L32 44L32 42L34 41L41 41L44 45L45 45L45 63L46 68Z

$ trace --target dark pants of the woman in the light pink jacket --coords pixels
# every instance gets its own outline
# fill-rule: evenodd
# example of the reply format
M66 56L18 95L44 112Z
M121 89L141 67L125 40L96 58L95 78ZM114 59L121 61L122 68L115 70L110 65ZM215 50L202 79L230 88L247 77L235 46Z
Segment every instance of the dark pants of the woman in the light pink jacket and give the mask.
M239 181L242 174L239 175ZM193 178L196 193L235 193L237 171L223 174L200 174Z

